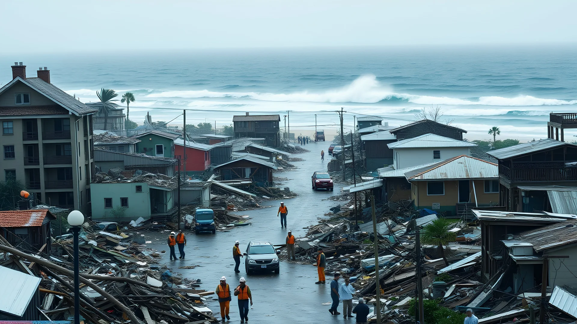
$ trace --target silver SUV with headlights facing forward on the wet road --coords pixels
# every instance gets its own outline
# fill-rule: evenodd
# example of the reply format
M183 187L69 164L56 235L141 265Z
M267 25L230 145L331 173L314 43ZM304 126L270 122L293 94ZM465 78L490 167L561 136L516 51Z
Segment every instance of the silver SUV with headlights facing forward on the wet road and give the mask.
M249 246L246 247L245 270L246 274L251 274L254 270L280 272L279 256L271 242L249 242Z

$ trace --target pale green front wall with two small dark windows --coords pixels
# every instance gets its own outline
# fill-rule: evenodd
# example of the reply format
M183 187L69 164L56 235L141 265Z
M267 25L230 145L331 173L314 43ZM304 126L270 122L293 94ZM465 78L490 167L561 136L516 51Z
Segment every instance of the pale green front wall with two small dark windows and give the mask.
M136 192L136 186L143 186L142 193ZM138 217L150 218L150 190L147 183L92 183L92 218L95 220L117 220L111 211L120 206L120 198L128 198L125 218L136 220ZM104 198L112 198L113 208L104 208Z

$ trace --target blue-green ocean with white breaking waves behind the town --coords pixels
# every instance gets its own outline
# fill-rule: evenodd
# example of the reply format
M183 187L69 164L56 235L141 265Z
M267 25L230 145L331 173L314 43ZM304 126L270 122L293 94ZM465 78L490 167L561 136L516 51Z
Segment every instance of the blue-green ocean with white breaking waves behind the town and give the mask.
M577 108L577 46L278 48L0 55L0 81L24 62L28 76L47 66L51 81L83 102L96 90L133 92L130 119L182 125L230 125L232 115L290 116L291 132L312 136L354 116L381 116L391 126L440 106L468 140L546 137L549 112ZM287 112L288 111L288 112ZM565 138L577 135L568 131Z

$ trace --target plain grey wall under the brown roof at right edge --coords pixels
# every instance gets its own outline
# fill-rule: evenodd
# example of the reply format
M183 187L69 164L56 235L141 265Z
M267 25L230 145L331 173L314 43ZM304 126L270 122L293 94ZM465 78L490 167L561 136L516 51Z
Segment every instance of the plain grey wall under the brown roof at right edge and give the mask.
M560 248L550 254L569 255L569 258L549 259L549 287L562 285L577 287L577 245Z

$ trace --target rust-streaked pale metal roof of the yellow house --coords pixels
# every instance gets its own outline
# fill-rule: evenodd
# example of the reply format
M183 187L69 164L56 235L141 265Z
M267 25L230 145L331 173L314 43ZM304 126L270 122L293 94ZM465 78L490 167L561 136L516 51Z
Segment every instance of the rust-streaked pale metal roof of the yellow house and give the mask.
M499 167L476 157L451 157L404 174L407 180L499 179Z

